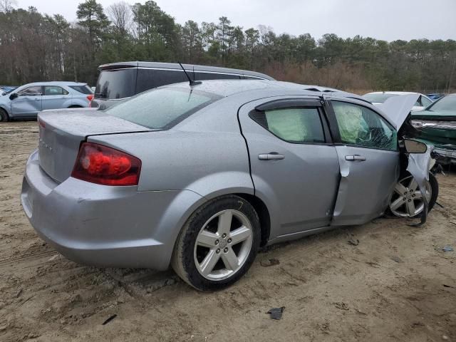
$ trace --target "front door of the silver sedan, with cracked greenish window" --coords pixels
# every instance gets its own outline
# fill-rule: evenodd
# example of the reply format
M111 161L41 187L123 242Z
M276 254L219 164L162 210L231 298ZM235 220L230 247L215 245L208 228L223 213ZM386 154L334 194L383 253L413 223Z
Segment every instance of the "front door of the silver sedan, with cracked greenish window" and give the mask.
M397 132L364 105L333 99L330 107L341 170L331 224L363 224L385 211L398 180Z

